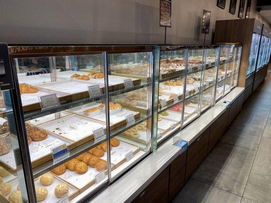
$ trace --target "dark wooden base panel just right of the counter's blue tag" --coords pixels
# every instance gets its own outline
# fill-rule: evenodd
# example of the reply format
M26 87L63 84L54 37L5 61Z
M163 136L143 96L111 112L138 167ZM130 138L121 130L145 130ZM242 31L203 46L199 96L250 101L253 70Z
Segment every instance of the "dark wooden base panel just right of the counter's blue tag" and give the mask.
M208 127L187 150L186 181L207 156L210 127Z

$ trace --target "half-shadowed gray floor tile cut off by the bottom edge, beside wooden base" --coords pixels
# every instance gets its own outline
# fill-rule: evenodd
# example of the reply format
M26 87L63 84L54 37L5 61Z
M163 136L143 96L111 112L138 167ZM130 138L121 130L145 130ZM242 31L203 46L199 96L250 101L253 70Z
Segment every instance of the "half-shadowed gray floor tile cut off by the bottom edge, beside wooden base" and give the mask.
M239 203L240 196L191 178L172 203Z

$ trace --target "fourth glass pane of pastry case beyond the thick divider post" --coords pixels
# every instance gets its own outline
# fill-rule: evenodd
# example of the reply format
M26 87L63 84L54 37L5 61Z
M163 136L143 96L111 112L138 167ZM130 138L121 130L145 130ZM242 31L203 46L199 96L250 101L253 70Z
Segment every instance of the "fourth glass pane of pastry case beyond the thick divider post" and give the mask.
M227 75L227 65L229 56L229 46L220 47L220 59L217 72L217 89L216 100L220 99L224 94L225 79Z

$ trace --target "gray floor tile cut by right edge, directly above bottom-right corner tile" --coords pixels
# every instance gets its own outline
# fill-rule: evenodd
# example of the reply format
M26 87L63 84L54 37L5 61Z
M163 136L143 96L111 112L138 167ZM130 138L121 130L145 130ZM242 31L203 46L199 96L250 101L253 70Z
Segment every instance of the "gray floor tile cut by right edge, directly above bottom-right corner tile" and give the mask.
M262 137L252 170L271 175L271 138Z

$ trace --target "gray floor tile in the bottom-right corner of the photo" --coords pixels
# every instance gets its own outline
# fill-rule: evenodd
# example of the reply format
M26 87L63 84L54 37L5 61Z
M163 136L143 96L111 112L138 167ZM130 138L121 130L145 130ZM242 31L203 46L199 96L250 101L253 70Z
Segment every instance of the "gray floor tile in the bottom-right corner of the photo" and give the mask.
M251 171L242 203L271 202L271 176Z

